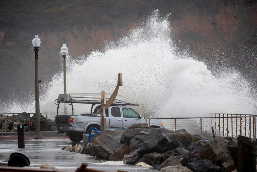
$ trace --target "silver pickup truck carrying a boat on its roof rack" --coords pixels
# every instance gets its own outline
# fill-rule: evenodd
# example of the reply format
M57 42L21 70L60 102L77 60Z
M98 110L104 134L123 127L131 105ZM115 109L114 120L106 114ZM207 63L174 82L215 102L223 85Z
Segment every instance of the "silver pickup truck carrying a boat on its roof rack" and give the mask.
M106 94L106 99L111 94ZM98 99L98 100L97 100ZM72 142L80 142L84 133L89 133L91 128L97 128L100 131L100 116L93 116L100 109L100 94L60 94L57 103L57 115L55 116L54 131L59 133L68 133ZM58 115L60 103L68 103L72 107L72 115ZM81 113L80 116L73 115L73 103L92 104L90 113ZM92 113L93 107L97 105ZM145 118L137 113L126 103L121 95L117 95L113 104L105 110L106 129L115 130L117 128L127 128L135 123L145 123ZM150 127L164 127L162 121L151 120Z

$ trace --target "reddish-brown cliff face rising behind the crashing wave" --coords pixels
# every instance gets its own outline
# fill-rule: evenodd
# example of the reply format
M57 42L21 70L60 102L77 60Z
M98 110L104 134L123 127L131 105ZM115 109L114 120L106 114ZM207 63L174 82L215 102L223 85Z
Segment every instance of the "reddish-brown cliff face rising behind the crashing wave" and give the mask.
M88 54L155 9L171 13L181 50L189 46L210 66L217 60L255 78L256 1L6 0L0 2L0 97L33 92L35 32L41 39L40 79L47 80L59 68L64 40L70 53Z

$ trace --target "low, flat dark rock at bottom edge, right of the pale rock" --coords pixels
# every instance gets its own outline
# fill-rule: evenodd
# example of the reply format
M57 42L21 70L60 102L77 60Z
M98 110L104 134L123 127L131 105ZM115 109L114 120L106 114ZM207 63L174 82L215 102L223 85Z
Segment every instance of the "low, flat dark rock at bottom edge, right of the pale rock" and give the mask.
M185 164L187 168L195 172L219 172L221 167L212 163L208 159L201 159L194 162L188 162Z

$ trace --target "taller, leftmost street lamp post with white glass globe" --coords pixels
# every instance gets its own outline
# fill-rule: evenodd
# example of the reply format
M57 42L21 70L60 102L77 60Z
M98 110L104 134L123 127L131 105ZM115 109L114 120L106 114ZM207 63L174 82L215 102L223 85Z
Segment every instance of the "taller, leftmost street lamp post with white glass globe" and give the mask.
M40 39L38 34L32 40L35 51L35 95L36 95L36 133L33 138L43 138L40 133L40 116L39 116L39 79L38 79L38 51L40 46Z

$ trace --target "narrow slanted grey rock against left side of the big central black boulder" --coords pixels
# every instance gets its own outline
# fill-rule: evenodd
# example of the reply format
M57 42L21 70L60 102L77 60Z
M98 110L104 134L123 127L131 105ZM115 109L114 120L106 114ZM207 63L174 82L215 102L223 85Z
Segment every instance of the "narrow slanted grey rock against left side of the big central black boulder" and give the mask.
M141 131L136 135L136 137L131 139L129 144L130 152L140 148L149 134L149 132Z

